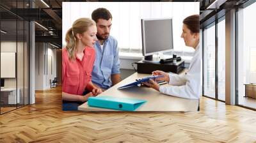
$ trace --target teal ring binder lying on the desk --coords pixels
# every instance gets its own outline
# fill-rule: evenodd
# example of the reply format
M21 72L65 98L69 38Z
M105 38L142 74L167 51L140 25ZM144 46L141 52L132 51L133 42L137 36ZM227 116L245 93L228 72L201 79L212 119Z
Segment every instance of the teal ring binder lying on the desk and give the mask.
M139 100L135 98L117 98L111 96L96 96L88 98L88 106L90 107L127 111L136 110L145 102L147 102L147 100Z

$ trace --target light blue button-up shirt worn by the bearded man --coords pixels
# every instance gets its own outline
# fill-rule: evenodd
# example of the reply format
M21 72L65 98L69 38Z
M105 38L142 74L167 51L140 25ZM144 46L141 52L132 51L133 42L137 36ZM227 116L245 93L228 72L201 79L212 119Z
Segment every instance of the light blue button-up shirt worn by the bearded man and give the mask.
M97 86L108 89L112 86L111 75L120 73L120 61L118 57L117 41L109 36L100 48L100 42L95 45L95 62L92 70L92 82Z

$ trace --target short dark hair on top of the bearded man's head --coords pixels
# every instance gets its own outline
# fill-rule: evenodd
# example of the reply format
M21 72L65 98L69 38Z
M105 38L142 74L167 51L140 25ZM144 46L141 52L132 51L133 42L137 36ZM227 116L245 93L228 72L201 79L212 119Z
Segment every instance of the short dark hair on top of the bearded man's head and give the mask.
M112 15L106 8L97 8L92 12L92 19L97 23L98 19L112 20Z

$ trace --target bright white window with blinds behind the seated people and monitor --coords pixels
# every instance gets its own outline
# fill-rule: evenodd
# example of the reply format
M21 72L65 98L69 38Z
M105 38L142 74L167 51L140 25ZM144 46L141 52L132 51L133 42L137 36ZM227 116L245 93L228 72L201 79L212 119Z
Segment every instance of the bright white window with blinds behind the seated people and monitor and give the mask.
M107 8L113 16L111 35L118 41L121 52L142 53L141 19L173 18L173 46L174 50L193 52L187 48L180 35L182 20L189 15L199 14L199 3L170 3L170 2L113 2L113 3L63 3L63 45L65 33L72 26L74 20L80 17L91 18L96 8Z

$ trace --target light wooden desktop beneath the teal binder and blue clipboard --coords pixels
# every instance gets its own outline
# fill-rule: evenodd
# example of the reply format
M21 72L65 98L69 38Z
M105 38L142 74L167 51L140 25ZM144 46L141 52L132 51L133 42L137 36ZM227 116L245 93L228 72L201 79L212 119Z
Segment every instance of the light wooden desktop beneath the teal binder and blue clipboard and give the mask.
M134 82L135 79L141 79L148 74L134 73L126 79L122 80L115 86L109 88L98 96L116 96L120 98L138 98L147 100L136 111L196 111L198 110L199 100L189 100L178 98L159 93L155 89L148 87L130 87L127 89L117 89L127 83ZM165 84L164 86L169 86ZM110 109L101 109L96 107L88 107L87 102L78 107L82 111L116 111Z

